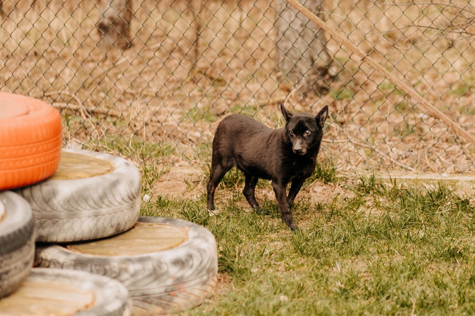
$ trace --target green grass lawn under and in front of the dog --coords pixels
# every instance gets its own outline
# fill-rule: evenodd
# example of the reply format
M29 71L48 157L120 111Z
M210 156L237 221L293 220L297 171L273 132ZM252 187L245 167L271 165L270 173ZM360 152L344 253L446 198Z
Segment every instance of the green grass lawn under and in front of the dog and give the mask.
M345 182L347 195L326 203L298 195L300 230L290 232L273 198L259 199L265 212L256 214L233 181L218 188L212 215L204 195L193 201L159 195L142 204L144 215L185 219L216 237L226 281L187 314L475 313L474 208L447 186L359 176Z

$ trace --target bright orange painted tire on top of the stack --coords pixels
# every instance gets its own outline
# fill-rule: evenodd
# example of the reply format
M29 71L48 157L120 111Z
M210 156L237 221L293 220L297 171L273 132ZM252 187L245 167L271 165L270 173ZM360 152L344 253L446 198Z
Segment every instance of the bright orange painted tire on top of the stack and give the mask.
M61 155L61 117L45 102L0 93L0 190L50 177Z

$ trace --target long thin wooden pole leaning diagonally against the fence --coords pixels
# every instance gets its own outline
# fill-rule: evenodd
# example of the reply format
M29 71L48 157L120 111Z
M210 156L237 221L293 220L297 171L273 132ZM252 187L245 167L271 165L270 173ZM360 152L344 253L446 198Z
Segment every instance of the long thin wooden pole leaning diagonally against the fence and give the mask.
M414 100L416 100L420 105L425 107L433 116L437 117L440 121L443 121L449 128L455 130L457 133L462 135L466 140L471 142L473 145L475 145L475 138L470 135L466 130L464 130L463 127L458 125L456 122L453 120L449 119L447 115L444 113L440 112L434 105L430 104L428 101L426 101L416 90L414 90L413 87L411 87L409 84L399 80L395 75L391 74L386 68L375 62L373 59L371 59L370 56L364 54L358 47L356 47L352 42L347 37L343 37L342 34L337 32L335 29L330 28L326 22L324 22L322 19L317 17L314 13L312 13L309 9L305 8L302 3L300 3L297 0L285 0L289 4L291 4L295 9L299 10L309 18L312 22L314 22L316 25L318 25L320 28L324 29L328 34L330 34L333 39L335 39L337 42L343 44L346 46L352 53L354 53L356 56L360 57L361 60L368 65L371 65L374 69L379 71L381 74L383 74L386 79L388 79L390 82L393 84L397 85L401 90L403 90L405 93L409 94Z

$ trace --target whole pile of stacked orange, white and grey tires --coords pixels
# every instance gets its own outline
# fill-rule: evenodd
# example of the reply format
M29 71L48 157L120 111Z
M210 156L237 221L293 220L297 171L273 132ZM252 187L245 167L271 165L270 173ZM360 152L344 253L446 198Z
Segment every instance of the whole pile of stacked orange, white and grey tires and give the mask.
M0 93L0 315L161 315L209 297L213 235L139 217L140 185L125 159L61 149L50 105Z

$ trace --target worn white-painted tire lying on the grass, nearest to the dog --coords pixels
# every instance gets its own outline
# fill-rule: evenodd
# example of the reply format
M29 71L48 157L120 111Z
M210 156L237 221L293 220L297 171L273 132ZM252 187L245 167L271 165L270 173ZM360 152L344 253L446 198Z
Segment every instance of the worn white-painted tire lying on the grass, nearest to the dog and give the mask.
M204 227L177 219L141 216L139 223L171 226L171 233L164 236L164 240L176 238L176 229L182 229L186 238L170 249L134 255L91 254L58 245L41 247L37 249L36 264L85 270L122 282L133 299L134 315L178 312L201 304L212 294L217 282L218 255L214 236ZM112 237L108 242L133 230ZM143 241L149 242L146 238ZM97 247L101 242L106 241L86 245ZM133 242L137 249L141 247L140 238ZM85 244L71 246L81 249L81 245ZM109 252L109 249L104 247L104 251Z

